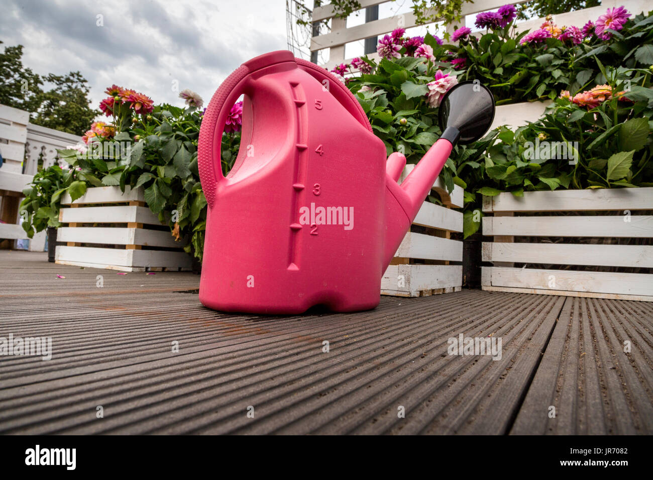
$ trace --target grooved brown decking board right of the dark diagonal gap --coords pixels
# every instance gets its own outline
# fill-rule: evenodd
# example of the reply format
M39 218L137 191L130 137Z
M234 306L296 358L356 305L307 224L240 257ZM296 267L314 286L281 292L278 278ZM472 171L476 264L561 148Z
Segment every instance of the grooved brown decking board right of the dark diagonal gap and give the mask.
M569 298L511 433L652 434L652 330L649 304Z

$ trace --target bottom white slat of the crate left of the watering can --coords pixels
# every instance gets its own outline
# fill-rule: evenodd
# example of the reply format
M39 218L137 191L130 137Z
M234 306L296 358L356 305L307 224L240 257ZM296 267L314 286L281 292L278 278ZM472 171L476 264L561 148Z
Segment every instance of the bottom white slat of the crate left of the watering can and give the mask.
M64 265L110 268L126 272L143 271L150 267L183 270L192 267L190 255L183 251L167 250L57 246L55 261Z

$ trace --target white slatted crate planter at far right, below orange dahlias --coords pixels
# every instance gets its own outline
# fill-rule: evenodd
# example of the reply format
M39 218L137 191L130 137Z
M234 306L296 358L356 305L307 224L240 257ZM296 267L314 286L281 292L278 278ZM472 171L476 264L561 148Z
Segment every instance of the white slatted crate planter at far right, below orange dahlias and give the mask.
M494 266L481 268L481 286L490 291L653 301L653 273L592 271L625 267L648 272L653 268L653 245L641 244L650 243L643 239L653 238L653 216L641 210L653 210L653 188L537 191L526 192L520 198L511 193L484 197L483 234L494 236L494 242L483 243L483 261ZM583 215L534 216L529 212ZM607 212L619 213L606 215ZM528 237L528 242L514 243L516 236ZM563 238L563 242L545 243L537 237ZM624 240L616 244L618 239L631 239L634 244L623 244ZM524 266L516 268L515 263ZM529 264L588 268L528 268Z

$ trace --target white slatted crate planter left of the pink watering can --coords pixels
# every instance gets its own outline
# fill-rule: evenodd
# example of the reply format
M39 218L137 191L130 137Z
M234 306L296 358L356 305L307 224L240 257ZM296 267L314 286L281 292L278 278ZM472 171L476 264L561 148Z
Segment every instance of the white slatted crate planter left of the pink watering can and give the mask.
M175 242L168 229L152 228L162 224L141 188L126 187L123 194L119 187L94 187L74 202L64 195L61 204L70 208L59 212L59 221L68 226L59 228L57 242L67 245L57 246L56 263L125 272L191 269L183 242Z

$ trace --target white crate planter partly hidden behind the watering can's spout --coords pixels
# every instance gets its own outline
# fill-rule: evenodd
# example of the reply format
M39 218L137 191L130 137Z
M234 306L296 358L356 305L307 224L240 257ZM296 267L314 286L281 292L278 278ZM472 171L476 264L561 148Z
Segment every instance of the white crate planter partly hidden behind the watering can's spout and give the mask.
M407 165L401 180L415 168ZM459 208L463 204L463 189L456 185L449 194L438 178L433 189L447 207ZM392 263L381 280L381 294L395 296L427 296L460 291L462 242L451 240L450 232L462 232L462 213L444 206L424 202L413 225L436 229L435 234L408 232L397 249ZM434 232L434 231L431 231ZM416 261L439 264L417 264Z

